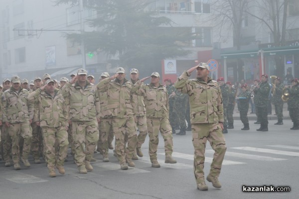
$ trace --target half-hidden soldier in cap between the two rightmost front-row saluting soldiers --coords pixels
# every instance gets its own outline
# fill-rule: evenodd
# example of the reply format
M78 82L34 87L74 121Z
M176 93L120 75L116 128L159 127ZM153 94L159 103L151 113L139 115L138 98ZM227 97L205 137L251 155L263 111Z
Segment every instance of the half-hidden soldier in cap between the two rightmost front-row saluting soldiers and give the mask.
M139 71L136 68L132 68L130 70L130 77L131 77L130 83L134 85L139 80ZM143 145L143 143L145 143L148 135L146 105L143 96L138 96L136 94L133 94L132 97L133 97L132 105L134 109L135 123L139 129L139 135L137 137L136 153L139 157L143 157L141 146ZM134 155L133 155L133 160L134 159L138 160L138 157L134 157Z

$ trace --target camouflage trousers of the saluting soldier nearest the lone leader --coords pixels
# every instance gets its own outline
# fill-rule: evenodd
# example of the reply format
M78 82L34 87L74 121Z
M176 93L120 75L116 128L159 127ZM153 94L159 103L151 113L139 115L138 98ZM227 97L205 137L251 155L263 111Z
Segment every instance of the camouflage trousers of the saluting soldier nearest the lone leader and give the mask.
M159 132L164 139L165 156L171 156L173 151L172 131L168 118L147 118L149 132L149 158L150 162L157 160Z

